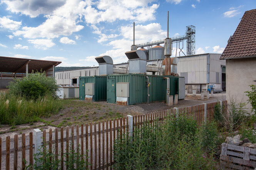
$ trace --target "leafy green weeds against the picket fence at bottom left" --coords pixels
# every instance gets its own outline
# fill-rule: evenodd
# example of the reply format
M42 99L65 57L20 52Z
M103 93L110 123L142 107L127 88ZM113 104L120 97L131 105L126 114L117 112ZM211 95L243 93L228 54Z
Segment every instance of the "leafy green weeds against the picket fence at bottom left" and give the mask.
M86 155L81 155L80 153L80 145L77 149L72 150L72 144L69 144L69 153L65 153L63 157L60 157L60 153L56 155L53 152L50 152L45 146L40 148L40 152L34 154L34 164L33 169L35 170L57 170L60 169L61 159L64 160L64 165L67 170L87 170L90 165L89 162L86 162ZM54 150L54 148L52 149ZM45 153L45 154L44 154ZM37 157L40 158L37 158ZM25 164L27 164L26 160ZM31 165L28 165L25 169L30 170L32 168Z

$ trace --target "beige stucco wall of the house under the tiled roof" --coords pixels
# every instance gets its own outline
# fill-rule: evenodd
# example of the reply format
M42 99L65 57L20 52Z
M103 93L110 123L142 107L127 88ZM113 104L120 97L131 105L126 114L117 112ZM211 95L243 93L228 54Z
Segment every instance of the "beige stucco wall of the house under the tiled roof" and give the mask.
M248 97L244 93L250 91L249 85L256 85L256 58L227 59L226 60L226 99L236 97L238 102L246 102ZM251 112L251 104L246 105Z

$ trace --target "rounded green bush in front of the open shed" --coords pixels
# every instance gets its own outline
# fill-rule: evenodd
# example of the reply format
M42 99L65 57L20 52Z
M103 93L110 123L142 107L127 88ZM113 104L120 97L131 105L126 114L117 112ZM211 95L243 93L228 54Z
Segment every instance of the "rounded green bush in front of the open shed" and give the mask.
M14 79L8 85L11 94L27 99L37 99L47 93L57 97L58 86L53 77L47 77L45 72L33 72L22 79Z

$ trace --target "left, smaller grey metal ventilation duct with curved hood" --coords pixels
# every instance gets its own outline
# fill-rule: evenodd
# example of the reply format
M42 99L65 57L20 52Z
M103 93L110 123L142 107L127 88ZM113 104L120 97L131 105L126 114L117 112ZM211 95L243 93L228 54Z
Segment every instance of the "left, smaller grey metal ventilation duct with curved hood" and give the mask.
M113 74L113 60L110 56L100 56L95 58L99 63L99 75L106 76Z

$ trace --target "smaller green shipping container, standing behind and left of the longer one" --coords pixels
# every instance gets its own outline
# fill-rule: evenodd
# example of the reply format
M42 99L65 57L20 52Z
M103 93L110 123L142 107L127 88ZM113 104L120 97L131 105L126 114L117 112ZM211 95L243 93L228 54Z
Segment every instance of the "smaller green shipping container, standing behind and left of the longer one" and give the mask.
M94 101L107 100L107 76L79 77L79 100L85 98L86 83L94 83Z

